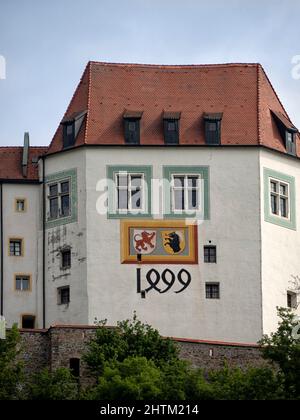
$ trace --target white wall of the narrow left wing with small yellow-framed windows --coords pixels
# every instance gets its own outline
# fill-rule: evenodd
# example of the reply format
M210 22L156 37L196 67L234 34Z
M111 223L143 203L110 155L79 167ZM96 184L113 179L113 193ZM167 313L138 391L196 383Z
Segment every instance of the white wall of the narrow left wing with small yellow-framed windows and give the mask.
M15 211L15 199L25 198L25 213ZM34 184L3 184L3 236L4 236L4 316L8 326L21 326L21 315L36 317L41 327L41 248L38 246L41 224L40 186ZM9 256L9 238L23 238L24 256ZM31 275L32 290L15 290L15 274Z

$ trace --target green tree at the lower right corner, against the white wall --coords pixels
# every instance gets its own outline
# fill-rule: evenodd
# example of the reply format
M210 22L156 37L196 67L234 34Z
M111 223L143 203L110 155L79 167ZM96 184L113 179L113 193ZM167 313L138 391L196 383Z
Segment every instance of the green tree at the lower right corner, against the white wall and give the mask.
M299 320L291 309L278 308L281 321L278 330L260 341L263 357L279 367L285 399L300 399L300 338Z

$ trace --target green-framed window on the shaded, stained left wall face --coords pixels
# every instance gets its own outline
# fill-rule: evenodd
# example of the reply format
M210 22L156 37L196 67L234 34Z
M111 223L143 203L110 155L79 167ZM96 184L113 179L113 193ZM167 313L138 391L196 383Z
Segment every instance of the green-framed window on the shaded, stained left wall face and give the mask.
M77 221L77 170L51 174L45 179L46 228Z

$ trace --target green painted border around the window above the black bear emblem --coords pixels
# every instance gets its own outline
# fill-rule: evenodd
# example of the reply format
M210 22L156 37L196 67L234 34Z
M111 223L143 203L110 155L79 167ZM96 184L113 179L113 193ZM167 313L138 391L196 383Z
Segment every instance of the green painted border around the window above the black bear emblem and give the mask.
M204 191L202 200L204 202L203 208L203 219L209 220L210 218L210 192L209 192L209 167L208 166L164 166L163 177L164 177L164 217L176 218L176 219L189 219L197 216L197 212L194 214L175 213L172 211L171 205L171 180L173 174L199 174L204 183Z

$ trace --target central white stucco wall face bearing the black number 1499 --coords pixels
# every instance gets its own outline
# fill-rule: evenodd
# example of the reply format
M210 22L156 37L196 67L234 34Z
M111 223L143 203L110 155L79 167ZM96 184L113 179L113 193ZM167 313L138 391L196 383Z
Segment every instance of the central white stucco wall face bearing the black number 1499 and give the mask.
M210 168L210 220L199 226L199 265L149 265L159 272L186 268L190 287L181 294L136 293L136 267L120 263L120 221L96 212L97 181L107 165L163 165ZM69 165L69 163L68 163ZM262 334L260 285L259 152L248 148L93 148L86 150L87 278L89 323L131 317L161 334L193 339L256 342ZM204 264L203 246L217 245L217 264ZM142 267L142 273L147 266ZM205 282L221 285L221 299L205 298Z

